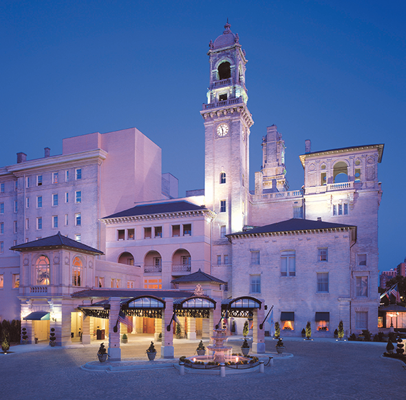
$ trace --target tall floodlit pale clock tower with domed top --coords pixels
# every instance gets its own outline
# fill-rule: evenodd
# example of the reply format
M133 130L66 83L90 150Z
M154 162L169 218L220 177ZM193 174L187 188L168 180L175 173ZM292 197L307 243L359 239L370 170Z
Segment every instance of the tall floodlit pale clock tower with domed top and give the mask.
M206 207L217 214L212 237L213 244L220 246L229 244L224 235L248 224L248 144L253 125L246 105L247 59L230 27L227 21L223 34L209 43L209 90L200 112L205 129L204 196ZM213 264L219 264L216 252L224 253L217 249Z

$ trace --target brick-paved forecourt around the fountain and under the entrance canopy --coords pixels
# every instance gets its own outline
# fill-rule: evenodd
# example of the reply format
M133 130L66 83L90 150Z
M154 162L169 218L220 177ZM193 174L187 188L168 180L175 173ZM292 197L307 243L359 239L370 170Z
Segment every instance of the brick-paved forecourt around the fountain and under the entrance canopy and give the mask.
M149 337L122 346L122 359L145 361ZM27 345L0 355L0 399L405 399L406 368L381 358L385 343L336 342L332 339L284 339L294 357L275 359L265 373L184 375L175 368L89 372L99 343L67 348ZM105 341L107 347L108 341ZM175 340L175 357L193 355L198 341ZM208 341L204 341L208 344ZM237 350L242 340L229 340ZM156 343L158 350L160 344ZM266 352L275 341L266 338ZM268 357L263 358L265 361ZM155 362L155 361L153 361ZM166 363L168 361L165 361Z

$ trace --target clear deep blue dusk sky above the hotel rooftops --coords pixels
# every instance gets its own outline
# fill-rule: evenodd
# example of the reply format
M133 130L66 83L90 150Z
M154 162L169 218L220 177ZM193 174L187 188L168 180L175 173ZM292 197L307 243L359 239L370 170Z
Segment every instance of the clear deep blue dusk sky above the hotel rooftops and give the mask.
M290 190L299 154L385 143L381 270L406 257L405 1L0 2L0 166L61 154L62 139L137 127L162 172L204 187L209 41L226 19L246 50L250 188L277 125Z

